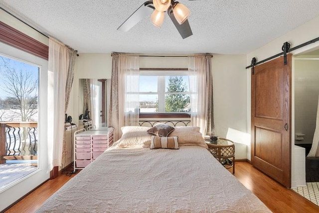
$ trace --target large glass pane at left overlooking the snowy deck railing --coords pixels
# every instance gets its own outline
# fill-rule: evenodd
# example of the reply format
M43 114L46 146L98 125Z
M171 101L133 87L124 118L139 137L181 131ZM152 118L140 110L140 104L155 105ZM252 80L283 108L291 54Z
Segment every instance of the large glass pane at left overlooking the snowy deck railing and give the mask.
M0 190L38 168L38 83L38 67L0 55L0 121L5 133L0 153L11 165ZM14 171L22 176L14 176Z

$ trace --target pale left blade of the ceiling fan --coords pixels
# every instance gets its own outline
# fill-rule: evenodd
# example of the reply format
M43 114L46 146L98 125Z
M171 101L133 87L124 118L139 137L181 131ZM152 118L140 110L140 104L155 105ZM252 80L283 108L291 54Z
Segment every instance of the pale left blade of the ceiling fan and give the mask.
M134 27L137 23L139 23L145 16L150 15L154 11L155 7L153 5L153 0L148 0L143 3L133 14L126 19L121 26L119 26L118 30L121 31L129 31L132 27Z

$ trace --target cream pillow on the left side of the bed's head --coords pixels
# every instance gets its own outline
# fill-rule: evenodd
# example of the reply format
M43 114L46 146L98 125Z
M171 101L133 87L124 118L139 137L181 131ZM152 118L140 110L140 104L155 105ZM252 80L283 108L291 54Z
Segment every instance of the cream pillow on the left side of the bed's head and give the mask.
M119 148L150 147L152 135L147 132L146 126L123 126Z

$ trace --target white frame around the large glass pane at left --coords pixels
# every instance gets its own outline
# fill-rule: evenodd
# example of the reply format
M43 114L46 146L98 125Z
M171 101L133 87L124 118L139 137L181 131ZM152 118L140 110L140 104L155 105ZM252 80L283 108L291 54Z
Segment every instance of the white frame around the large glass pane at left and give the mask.
M49 179L50 174L47 171L47 138L50 121L48 114L53 114L53 108L48 105L48 96L53 94L53 87L50 84L48 72L48 61L12 46L0 42L1 55L13 58L28 64L39 67L39 91L38 91L38 169L27 176L16 181L0 192L0 211L19 198L29 193L41 183ZM52 122L51 122L52 123Z

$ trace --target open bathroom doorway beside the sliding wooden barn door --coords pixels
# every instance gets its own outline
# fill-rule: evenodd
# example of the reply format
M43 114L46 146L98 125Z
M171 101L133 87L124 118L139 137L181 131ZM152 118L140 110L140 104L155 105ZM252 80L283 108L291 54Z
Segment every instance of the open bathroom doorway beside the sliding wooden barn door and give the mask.
M295 133L293 142L299 147L295 149L298 150L296 153L299 154L295 159L299 158L299 161L295 162L297 186L294 191L318 205L319 158L308 158L307 155L312 147L316 129L319 96L319 50L296 56L294 67Z

